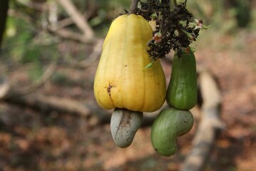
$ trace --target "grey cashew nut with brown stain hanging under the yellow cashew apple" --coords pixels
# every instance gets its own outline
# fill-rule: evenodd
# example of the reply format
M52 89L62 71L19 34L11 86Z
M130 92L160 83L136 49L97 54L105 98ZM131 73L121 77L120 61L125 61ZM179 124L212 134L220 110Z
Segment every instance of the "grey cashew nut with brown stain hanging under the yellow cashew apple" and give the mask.
M111 116L111 135L118 147L128 147L143 120L142 112L116 108Z

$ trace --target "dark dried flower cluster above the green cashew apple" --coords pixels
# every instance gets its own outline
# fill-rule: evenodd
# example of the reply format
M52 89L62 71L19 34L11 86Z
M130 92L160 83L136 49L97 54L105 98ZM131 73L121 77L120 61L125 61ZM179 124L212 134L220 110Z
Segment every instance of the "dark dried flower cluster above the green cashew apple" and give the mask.
M170 0L140 1L140 4L138 14L156 22L153 39L148 45L153 61L163 58L172 49L179 54L181 49L188 48L195 41L203 28L203 21L195 19L186 9L186 1L175 6Z

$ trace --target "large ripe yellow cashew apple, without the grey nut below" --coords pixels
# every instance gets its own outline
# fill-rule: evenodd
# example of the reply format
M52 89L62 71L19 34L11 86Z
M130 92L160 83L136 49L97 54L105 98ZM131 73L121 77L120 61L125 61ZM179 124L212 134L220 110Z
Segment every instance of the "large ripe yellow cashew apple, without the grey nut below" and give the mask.
M113 21L103 43L94 81L94 95L104 109L158 110L165 101L165 75L159 61L151 62L148 43L152 28L142 17L122 15Z

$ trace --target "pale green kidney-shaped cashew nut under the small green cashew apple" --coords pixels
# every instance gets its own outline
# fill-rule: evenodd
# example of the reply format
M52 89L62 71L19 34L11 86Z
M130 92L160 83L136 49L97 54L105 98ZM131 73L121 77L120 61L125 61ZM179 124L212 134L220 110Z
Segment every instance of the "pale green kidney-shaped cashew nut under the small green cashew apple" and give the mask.
M151 129L151 143L160 155L171 156L177 150L176 138L188 133L194 118L189 110L166 108L155 119Z

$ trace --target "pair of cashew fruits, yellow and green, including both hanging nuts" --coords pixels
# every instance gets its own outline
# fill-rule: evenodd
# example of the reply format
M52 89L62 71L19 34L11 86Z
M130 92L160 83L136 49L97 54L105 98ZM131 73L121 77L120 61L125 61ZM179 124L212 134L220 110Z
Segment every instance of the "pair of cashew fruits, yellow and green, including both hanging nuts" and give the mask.
M193 108L197 101L195 56L183 51L175 54L166 92L165 74L159 59L152 62L147 52L153 30L143 16L118 16L109 28L94 80L94 95L103 109L114 109L111 135L118 147L128 147L140 128L143 112L162 110L151 130L154 149L165 156L176 152L176 138L193 127ZM150 67L148 67L148 64Z

